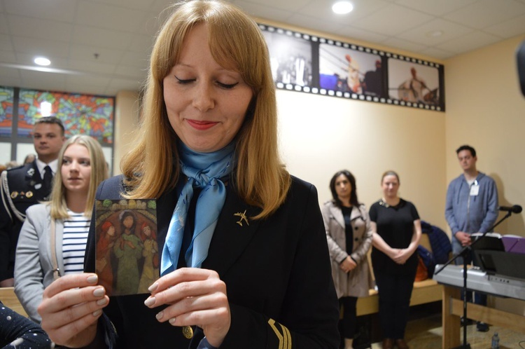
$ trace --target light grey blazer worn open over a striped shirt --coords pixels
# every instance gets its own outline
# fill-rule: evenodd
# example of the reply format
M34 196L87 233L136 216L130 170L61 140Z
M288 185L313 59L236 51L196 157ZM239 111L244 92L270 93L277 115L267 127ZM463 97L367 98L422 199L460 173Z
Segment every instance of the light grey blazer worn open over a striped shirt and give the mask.
M16 247L15 294L27 315L40 323L41 316L36 308L42 302L43 291L53 282L53 263L51 257L51 218L50 206L33 205L27 209L26 219L20 231ZM60 275L64 271L62 259L62 235L64 224L55 221L55 250Z

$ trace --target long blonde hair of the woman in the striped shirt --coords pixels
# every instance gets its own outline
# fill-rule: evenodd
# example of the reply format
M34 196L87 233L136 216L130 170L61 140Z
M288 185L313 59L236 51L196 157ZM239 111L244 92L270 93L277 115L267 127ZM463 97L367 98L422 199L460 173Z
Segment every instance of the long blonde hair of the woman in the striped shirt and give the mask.
M58 166L57 173L53 179L53 188L51 191L51 200L48 203L51 207L51 217L54 219L66 219L69 217L67 214L66 205L66 187L62 182L62 163L64 162L64 153L71 144L80 144L87 148L90 153L90 164L91 164L91 176L90 186L87 191L87 200L85 203L85 217L91 217L91 212L94 204L94 196L97 191L97 187L100 182L108 178L108 168L106 164L106 158L104 158L104 152L102 146L96 139L87 135L75 135L64 143L62 149L58 153Z

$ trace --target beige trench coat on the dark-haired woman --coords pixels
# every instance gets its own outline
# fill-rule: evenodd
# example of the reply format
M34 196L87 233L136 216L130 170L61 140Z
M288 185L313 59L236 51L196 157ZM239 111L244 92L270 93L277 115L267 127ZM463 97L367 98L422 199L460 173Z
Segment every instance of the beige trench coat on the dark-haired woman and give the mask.
M321 213L325 223L337 298L368 296L368 290L373 287L367 259L367 252L372 245L372 230L365 205L354 206L350 216L353 231L353 251L350 255L357 261L356 268L350 273L345 273L339 267L341 261L349 255L346 252L343 212L330 200L323 205Z

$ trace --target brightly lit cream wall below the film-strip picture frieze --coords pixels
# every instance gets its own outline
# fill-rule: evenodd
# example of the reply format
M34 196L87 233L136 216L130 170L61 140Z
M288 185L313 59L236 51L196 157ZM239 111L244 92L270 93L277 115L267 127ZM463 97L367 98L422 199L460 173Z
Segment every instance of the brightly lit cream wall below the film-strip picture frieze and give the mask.
M421 219L443 226L444 113L277 91L283 160L293 175L316 185L319 201L338 170L356 177L368 207L381 198L381 175L395 170L400 195Z

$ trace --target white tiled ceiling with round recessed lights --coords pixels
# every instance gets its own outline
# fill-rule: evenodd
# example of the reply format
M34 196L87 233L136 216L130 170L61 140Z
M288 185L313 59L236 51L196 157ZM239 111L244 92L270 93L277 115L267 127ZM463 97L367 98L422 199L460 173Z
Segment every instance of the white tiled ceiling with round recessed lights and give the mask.
M231 0L258 18L445 60L525 34L525 0ZM0 0L0 85L95 95L139 90L170 0ZM430 33L440 31L441 36ZM38 71L36 55L48 57Z

